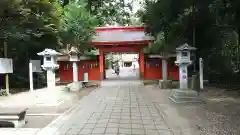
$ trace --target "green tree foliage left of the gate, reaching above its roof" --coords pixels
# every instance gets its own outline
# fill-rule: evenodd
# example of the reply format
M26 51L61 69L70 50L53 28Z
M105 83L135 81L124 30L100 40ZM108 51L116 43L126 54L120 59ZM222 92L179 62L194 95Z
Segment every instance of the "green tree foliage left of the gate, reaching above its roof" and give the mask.
M0 57L7 45L14 64L10 87L28 87L28 62L41 59L44 48L70 45L84 52L94 27L127 24L130 8L123 0L1 0Z

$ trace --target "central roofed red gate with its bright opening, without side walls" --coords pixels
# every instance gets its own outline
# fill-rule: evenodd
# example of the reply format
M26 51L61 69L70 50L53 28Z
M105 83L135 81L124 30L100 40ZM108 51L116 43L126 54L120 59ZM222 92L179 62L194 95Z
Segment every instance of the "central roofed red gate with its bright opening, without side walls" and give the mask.
M152 37L146 35L144 30L144 26L96 28L97 35L93 38L91 45L99 49L99 66L101 80L107 78L143 78L144 53L142 49L152 41ZM112 74L109 75L111 69L109 71L108 67L106 67L106 56L108 56L107 54L117 53L120 54L118 55L120 58L117 62L120 67L120 74L119 76L116 76L112 72ZM134 59L132 61L125 61L124 59L122 59L123 56L129 56L128 54L136 54L137 57L135 57L135 61ZM132 70L131 72L128 67L132 67L133 65L139 68L135 71Z

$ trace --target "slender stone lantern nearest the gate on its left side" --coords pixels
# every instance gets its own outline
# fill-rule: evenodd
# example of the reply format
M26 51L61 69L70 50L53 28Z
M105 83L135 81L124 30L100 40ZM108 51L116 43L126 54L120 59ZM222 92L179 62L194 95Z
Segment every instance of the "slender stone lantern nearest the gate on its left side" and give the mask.
M79 61L78 55L80 52L76 47L71 47L70 51L68 52L70 61L73 62L73 82L78 82L78 66L77 62Z

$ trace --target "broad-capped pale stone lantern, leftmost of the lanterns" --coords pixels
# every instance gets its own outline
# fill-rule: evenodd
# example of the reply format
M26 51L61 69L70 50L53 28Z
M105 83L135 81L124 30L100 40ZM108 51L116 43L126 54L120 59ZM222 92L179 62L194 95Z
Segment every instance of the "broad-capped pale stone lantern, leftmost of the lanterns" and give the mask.
M41 67L47 71L47 87L55 87L55 70L59 68L57 57L62 54L53 49L45 49L44 51L37 53L37 55L43 56L43 65Z

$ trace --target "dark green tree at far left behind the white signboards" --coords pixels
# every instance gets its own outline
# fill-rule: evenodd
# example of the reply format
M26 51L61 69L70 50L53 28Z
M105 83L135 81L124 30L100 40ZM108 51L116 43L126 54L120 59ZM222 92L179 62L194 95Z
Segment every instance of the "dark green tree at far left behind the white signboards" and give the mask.
M2 0L0 6L1 50L7 44L14 63L11 87L28 86L28 60L59 45L61 6L55 0Z

